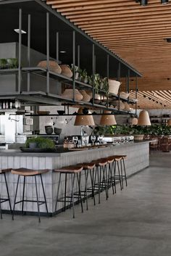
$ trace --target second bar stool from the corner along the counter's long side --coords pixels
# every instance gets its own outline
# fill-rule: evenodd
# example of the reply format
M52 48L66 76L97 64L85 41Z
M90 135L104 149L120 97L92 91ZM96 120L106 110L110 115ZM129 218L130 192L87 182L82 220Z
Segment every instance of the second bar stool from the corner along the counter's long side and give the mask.
M88 210L88 193L91 194L91 197L93 199L93 205L96 205L96 201L95 201L95 194L94 194L94 189L93 189L93 171L95 168L95 163L93 162L83 162L83 163L79 163L78 166L82 166L84 173L85 173L85 189L83 192L84 194L84 198L86 197L86 210ZM90 175L91 178L91 187L88 187L88 175Z

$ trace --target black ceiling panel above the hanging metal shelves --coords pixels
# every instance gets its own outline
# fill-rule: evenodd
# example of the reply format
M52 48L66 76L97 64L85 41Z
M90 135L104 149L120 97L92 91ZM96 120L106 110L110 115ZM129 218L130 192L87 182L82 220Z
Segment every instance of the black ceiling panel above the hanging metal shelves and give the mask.
M28 30L28 15L31 15L31 48L46 54L46 12L36 1L25 1L14 4L0 5L0 33L1 43L18 41L18 35L14 28L19 28L19 9L22 9L22 29ZM55 58L56 53L56 35L59 32L59 51L64 50L66 54L59 54L62 63L70 65L72 63L72 28L55 15L50 14L50 56ZM80 33L76 33L76 61L77 48L80 45L80 67L86 68L88 73L92 73L92 41L88 40ZM22 35L22 44L27 46L28 36ZM96 54L96 73L107 76L107 52L98 46L95 46ZM77 62L76 62L77 64ZM113 57L109 57L109 76L117 78L117 69L119 62ZM121 65L121 76L128 74L128 67ZM135 73L131 72L134 76Z

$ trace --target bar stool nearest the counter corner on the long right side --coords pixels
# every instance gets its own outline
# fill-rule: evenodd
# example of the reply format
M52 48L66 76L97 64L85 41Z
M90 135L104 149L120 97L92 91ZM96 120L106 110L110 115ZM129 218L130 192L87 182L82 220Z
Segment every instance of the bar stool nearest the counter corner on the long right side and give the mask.
M78 198L78 202L80 201L81 205L81 210L83 212L83 202L82 202L82 197L81 197L81 191L80 191L80 172L83 170L82 166L77 166L77 165L70 165L70 166L65 166L63 168L58 168L55 169L54 172L59 173L59 185L57 189L57 199L56 199L56 204L55 204L55 211L57 212L57 203L58 202L64 202L64 210L66 210L66 203L70 202L70 207L72 206L72 214L73 218L75 218L75 196ZM79 176L78 176L79 173ZM64 197L59 198L59 187L61 184L61 176L62 174L65 175L65 180L64 180ZM70 175L72 179L72 187L71 187L71 195L67 195L67 176ZM75 175L77 177L78 181L78 192L74 192L75 189ZM67 200L70 199L70 200Z

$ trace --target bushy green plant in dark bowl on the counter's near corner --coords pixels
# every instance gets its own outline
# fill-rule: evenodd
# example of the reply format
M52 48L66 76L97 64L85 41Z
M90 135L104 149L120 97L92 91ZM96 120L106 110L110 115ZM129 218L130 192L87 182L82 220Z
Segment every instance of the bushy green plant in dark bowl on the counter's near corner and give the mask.
M27 139L27 141L25 142L25 147L28 148L30 143L36 143L36 147L39 149L55 148L54 141L52 141L51 139L43 138L43 137L34 137L34 138Z

